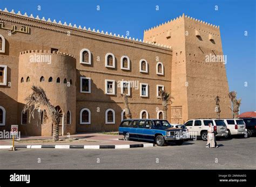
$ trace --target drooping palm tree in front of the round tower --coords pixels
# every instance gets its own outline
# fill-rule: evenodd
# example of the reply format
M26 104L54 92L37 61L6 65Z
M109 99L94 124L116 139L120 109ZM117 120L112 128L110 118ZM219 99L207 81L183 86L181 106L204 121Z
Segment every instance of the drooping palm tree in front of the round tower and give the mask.
M26 104L23 107L22 112L25 113L29 111L29 123L31 116L34 118L35 111L41 111L41 107L46 107L48 113L52 119L53 125L53 132L52 132L52 140L58 141L59 140L59 121L60 121L60 114L55 109L55 107L50 103L50 100L47 98L45 91L41 87L32 86L31 88L33 92L25 98ZM41 115L39 115L39 120L41 120Z

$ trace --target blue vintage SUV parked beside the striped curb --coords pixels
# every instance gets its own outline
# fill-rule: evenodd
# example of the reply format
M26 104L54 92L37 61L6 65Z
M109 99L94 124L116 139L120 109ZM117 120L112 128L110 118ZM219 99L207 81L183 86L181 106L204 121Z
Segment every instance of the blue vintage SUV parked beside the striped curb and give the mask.
M166 142L181 145L188 139L185 129L174 128L167 120L160 119L125 119L119 126L119 135L124 140L145 140L164 146Z

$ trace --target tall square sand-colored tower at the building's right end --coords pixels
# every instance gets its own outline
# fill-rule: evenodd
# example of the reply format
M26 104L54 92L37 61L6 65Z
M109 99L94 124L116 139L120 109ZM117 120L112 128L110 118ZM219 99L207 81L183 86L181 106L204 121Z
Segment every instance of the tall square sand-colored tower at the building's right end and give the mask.
M144 40L172 46L171 122L232 117L219 27L183 16L144 31Z

